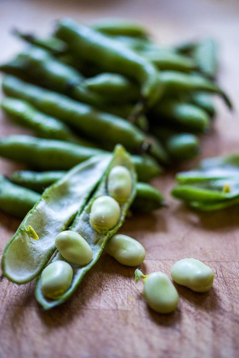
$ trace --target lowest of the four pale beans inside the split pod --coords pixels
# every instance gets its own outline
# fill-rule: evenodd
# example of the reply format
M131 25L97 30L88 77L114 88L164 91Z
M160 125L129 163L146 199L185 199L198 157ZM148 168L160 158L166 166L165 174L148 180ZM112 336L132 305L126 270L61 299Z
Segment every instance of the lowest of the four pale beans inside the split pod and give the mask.
M65 261L54 261L42 271L41 289L45 297L56 300L71 286L73 270Z

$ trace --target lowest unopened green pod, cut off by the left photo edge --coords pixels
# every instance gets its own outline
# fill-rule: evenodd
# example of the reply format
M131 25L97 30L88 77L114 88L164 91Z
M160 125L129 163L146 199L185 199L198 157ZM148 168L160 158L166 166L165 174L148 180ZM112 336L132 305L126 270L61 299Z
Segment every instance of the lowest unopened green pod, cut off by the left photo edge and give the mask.
M0 209L5 213L23 219L39 198L33 190L13 184L0 175Z

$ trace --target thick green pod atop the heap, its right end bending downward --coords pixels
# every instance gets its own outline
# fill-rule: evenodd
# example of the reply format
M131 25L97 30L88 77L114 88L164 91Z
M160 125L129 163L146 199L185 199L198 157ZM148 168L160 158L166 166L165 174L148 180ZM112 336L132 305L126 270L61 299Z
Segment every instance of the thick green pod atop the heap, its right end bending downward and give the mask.
M118 72L139 81L144 105L151 106L157 101L161 81L157 69L142 56L68 18L58 23L55 35L66 41L70 51L80 58L94 61L105 71Z

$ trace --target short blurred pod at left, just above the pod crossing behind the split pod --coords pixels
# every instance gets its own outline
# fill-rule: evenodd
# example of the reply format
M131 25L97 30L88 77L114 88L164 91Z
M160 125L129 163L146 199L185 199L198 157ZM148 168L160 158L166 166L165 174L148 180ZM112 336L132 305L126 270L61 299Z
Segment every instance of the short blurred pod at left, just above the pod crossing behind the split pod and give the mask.
M39 137L95 147L95 144L92 142L81 139L73 134L71 129L58 119L36 110L36 108L25 101L9 97L3 98L1 108L10 116L11 120L32 129Z

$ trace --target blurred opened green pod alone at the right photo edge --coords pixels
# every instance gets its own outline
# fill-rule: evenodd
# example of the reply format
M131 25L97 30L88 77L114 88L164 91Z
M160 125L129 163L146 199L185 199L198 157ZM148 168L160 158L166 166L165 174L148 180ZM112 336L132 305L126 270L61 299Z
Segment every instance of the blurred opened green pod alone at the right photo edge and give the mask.
M178 173L175 198L201 211L220 210L239 203L239 155L206 158L194 170Z

